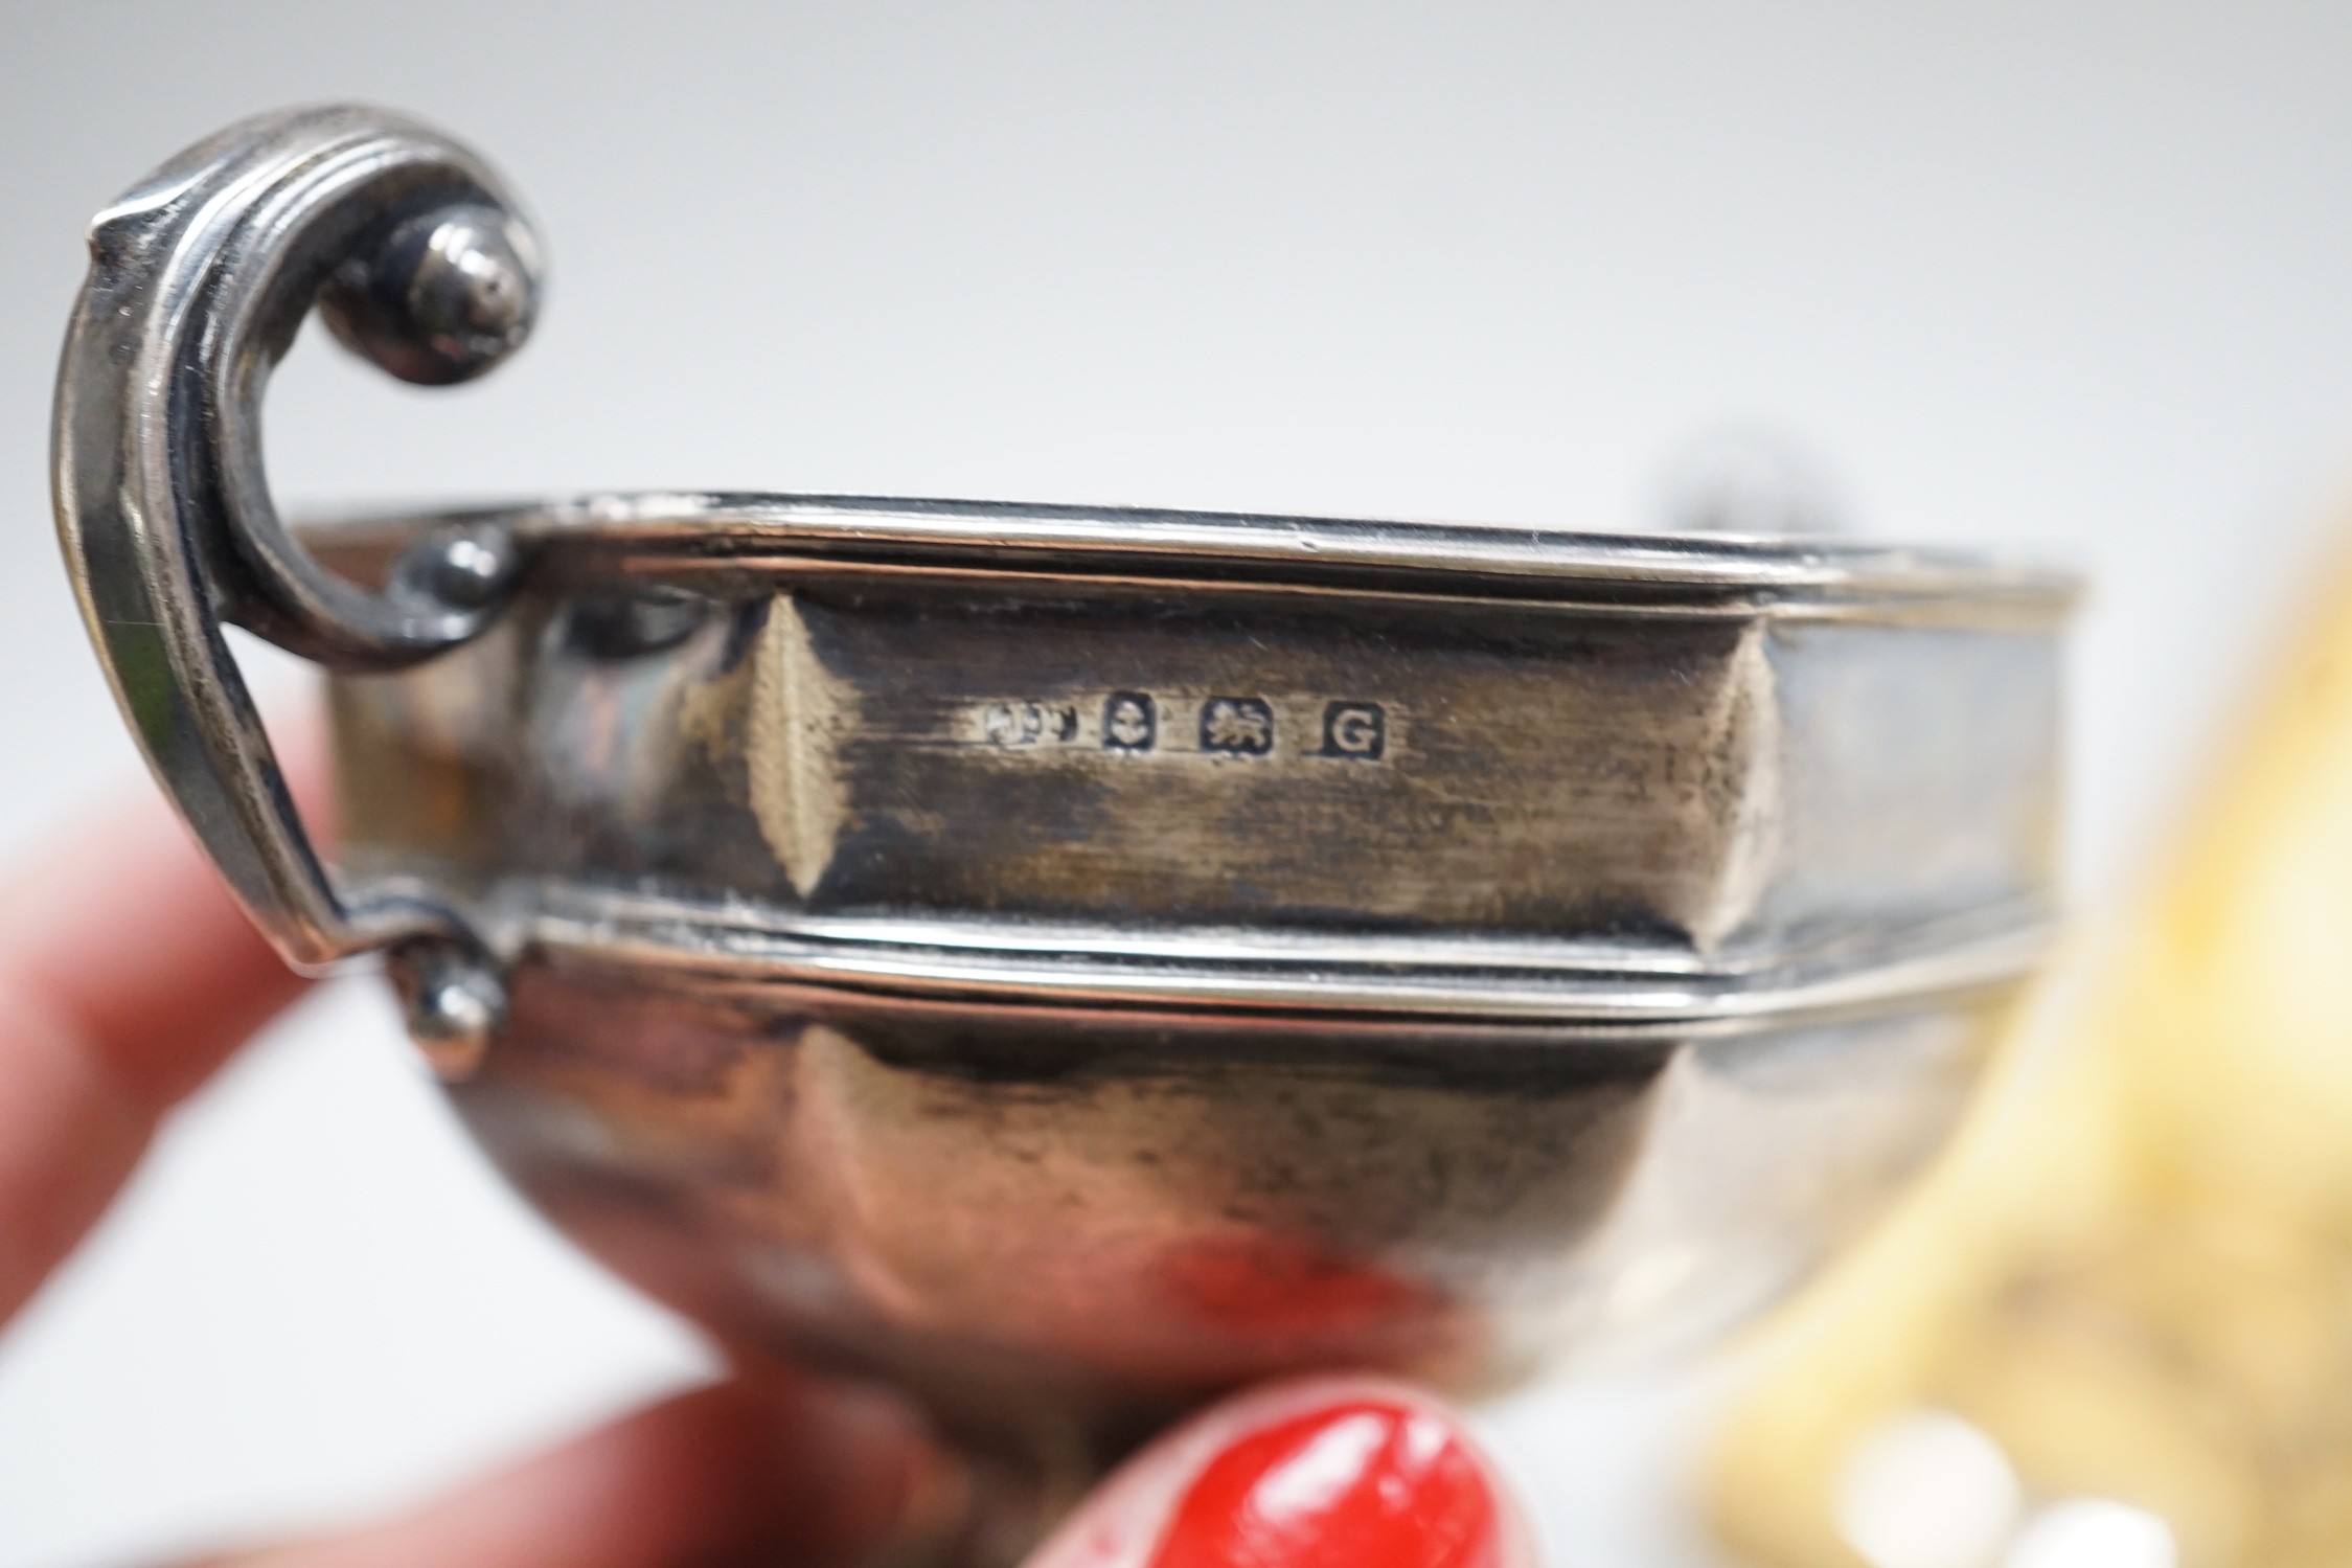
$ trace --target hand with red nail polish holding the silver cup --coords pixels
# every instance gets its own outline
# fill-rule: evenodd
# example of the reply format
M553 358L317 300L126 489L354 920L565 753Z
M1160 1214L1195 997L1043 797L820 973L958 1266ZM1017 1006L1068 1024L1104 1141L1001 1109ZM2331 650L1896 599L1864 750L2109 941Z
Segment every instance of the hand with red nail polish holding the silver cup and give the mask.
M0 1321L99 1218L162 1114L301 987L151 792L0 879ZM936 1512L941 1474L870 1396L739 1375L405 1519L214 1563L858 1561ZM1334 1378L1242 1394L1160 1439L1030 1568L1522 1568L1526 1542L1444 1406Z

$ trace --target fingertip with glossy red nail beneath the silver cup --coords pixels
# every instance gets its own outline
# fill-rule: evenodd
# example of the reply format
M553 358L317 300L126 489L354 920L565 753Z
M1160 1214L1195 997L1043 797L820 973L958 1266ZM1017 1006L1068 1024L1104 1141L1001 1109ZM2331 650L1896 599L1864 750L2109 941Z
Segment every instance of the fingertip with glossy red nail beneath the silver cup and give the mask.
M1437 1399L1256 1389L1129 1460L1028 1568L1534 1568L1510 1493Z

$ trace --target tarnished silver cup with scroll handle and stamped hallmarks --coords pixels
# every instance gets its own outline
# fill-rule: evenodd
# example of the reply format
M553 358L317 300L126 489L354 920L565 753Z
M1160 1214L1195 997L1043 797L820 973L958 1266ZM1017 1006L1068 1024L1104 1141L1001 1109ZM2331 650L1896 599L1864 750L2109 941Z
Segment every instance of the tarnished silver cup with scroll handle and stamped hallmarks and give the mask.
M456 381L534 289L442 136L233 127L92 228L59 527L254 922L386 952L496 1161L729 1352L898 1385L1044 1519L1254 1378L1722 1326L1950 1128L2049 919L2065 578L814 496L280 524L313 301ZM334 672L332 875L223 623Z

